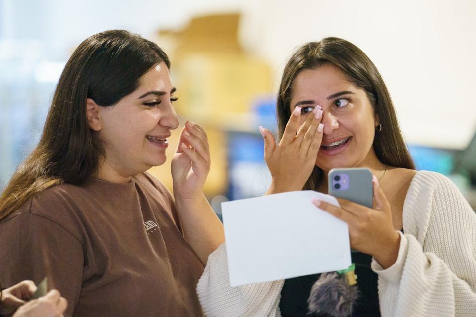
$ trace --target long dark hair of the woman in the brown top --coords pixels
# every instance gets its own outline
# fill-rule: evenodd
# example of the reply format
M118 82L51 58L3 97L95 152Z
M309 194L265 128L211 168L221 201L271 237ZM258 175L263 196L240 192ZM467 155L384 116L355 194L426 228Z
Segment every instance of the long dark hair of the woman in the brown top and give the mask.
M61 74L38 145L1 194L0 220L51 186L90 181L104 149L88 126L86 99L112 106L162 61L170 68L155 43L124 30L104 31L82 42Z

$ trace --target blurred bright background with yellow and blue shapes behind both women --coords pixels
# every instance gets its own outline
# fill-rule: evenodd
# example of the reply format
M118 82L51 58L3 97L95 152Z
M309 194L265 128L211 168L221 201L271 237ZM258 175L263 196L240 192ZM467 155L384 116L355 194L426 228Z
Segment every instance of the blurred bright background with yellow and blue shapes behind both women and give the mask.
M74 48L123 28L172 59L180 121L208 132L214 208L261 195L270 180L258 126L293 49L345 38L379 68L418 169L448 175L476 206L476 1L0 0L0 190L38 142ZM178 132L170 140L170 154ZM170 165L151 170L171 187Z

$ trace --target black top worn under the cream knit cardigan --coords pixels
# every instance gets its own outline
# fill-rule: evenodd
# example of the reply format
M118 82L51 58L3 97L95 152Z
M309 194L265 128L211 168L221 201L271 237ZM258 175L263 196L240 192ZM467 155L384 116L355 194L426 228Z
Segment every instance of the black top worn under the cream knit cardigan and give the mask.
M372 256L361 252L352 252L351 257L352 262L356 264L355 273L360 292L352 317L380 317L378 275L370 267ZM279 302L282 317L325 317L322 314L308 313L307 299L312 285L319 276L320 274L314 274L285 280Z

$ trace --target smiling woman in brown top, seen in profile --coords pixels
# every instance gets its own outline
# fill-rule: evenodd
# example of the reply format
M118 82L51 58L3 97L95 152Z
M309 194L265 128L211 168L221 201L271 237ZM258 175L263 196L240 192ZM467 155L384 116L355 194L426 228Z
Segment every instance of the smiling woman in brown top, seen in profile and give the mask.
M202 316L195 286L224 240L202 189L205 131L186 122L174 196L146 173L179 126L170 61L123 30L82 42L43 134L0 198L0 279L48 277L69 316Z

